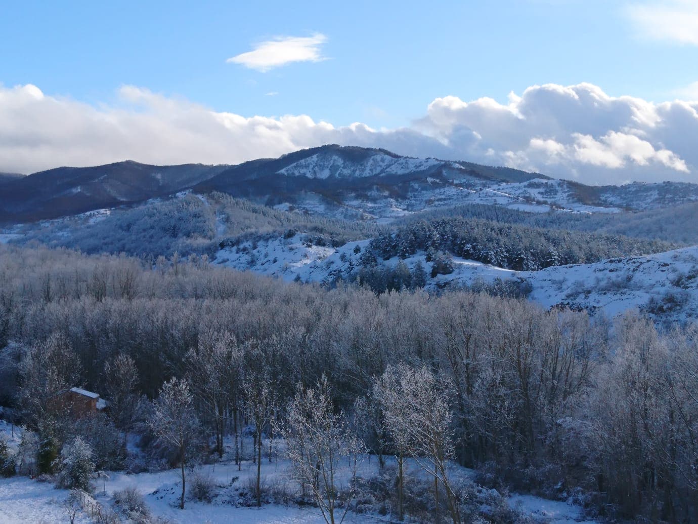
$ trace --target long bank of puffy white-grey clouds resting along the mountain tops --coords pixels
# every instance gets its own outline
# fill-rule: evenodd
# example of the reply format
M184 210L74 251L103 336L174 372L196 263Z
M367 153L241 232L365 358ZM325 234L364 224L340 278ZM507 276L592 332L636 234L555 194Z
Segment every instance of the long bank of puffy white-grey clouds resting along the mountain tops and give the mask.
M336 127L306 115L213 112L139 87L94 107L0 87L0 171L31 173L133 159L239 163L327 143L535 170L588 184L698 182L698 102L611 97L590 84L534 86L508 103L431 102L410 127Z

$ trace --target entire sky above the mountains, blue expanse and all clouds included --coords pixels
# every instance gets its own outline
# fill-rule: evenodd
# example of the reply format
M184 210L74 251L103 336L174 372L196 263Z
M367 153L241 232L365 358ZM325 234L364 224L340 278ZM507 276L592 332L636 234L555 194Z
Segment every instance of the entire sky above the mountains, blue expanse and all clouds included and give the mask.
M324 143L698 182L698 0L4 1L0 171Z

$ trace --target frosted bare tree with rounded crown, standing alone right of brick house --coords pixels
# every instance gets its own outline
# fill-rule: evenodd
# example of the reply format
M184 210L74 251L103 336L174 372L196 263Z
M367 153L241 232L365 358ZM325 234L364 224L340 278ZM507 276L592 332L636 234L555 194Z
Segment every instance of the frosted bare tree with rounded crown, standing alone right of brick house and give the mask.
M163 384L158 398L153 402L153 416L148 425L158 439L177 449L181 468L179 507L184 509L184 467L191 458L200 435L199 420L194 411L193 398L186 379L173 378Z

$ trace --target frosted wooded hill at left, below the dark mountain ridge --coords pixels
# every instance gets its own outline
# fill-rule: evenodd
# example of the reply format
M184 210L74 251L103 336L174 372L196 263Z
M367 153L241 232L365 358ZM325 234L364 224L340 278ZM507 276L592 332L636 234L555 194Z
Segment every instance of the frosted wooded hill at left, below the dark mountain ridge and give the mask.
M321 238L327 245L369 238L380 226L275 210L226 194L188 194L149 202L108 214L69 217L26 226L21 243L32 240L87 254L131 256L212 256L219 245L234 245L246 235L283 235L293 229ZM19 242L19 241L17 241Z

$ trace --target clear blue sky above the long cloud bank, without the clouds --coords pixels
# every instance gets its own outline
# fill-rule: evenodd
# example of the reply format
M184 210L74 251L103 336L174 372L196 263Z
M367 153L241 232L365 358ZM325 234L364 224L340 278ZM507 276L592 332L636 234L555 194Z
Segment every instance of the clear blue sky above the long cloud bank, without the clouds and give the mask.
M419 126L429 104L447 96L466 103L491 97L506 105L510 92L521 96L536 85L586 82L611 99L698 99L693 29L698 31L693 0L6 2L0 82L6 90L34 85L43 96L109 114L152 112L150 102L124 99L123 87L133 86L218 113L308 115L337 129L362 122L374 130L426 133L452 147L450 138ZM309 59L267 67L244 57L229 60L265 42L295 42ZM470 121L466 126L482 136ZM610 143L602 140L608 131L622 129L594 131L603 145ZM567 144L554 133L536 133L528 140ZM650 143L655 151L668 147ZM415 151L424 148L429 150ZM444 154L438 147L434 152ZM460 150L463 157L469 152ZM506 152L496 151L493 161L507 161ZM508 163L516 163L519 151L508 152L514 153ZM521 166L538 167L528 157ZM641 167L632 154L626 157L624 168ZM79 156L68 160L89 163ZM3 165L0 155L0 170L22 168L15 164Z

